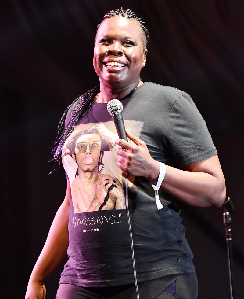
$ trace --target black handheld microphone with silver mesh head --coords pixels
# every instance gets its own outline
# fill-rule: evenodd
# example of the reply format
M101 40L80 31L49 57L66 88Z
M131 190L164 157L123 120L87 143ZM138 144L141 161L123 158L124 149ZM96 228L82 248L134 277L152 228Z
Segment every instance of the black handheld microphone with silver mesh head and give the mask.
M128 141L125 133L124 120L122 116L123 105L120 100L113 99L107 104L108 113L112 116L117 133L120 139Z

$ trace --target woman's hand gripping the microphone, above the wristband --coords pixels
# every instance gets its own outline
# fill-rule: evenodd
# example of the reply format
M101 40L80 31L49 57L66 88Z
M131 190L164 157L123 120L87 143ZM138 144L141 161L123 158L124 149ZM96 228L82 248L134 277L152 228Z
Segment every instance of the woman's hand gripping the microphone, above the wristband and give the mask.
M117 166L128 175L143 176L149 181L156 179L160 172L159 162L151 157L143 140L128 130L126 134L132 142L124 139L115 140L115 143L122 147L116 150Z

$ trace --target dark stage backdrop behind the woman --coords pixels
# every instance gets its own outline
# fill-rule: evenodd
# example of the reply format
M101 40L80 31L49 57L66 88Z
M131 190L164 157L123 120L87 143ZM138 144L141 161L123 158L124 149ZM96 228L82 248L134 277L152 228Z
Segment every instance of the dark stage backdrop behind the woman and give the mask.
M30 272L63 201L62 166L48 175L64 109L97 83L97 24L132 9L149 29L143 81L188 92L206 120L226 178L236 298L244 297L243 0L9 0L0 6L1 298L24 298ZM183 206L199 299L228 299L224 208ZM46 283L55 298L60 269Z

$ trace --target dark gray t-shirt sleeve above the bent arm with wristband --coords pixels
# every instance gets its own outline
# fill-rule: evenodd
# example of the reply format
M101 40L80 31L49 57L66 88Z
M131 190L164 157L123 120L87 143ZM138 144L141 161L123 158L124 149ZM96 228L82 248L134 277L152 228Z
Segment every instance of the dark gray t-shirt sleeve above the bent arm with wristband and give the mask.
M206 122L188 94L173 103L165 134L178 168L217 154Z

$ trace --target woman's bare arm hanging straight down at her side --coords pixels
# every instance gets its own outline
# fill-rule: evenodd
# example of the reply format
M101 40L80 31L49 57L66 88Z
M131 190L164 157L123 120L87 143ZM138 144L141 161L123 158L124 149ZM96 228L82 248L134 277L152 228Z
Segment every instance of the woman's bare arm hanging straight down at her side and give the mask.
M64 201L54 217L45 245L30 275L25 299L45 299L44 283L67 254L70 201L70 182L67 180Z

